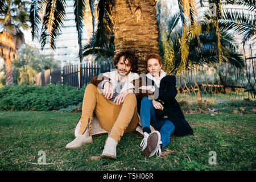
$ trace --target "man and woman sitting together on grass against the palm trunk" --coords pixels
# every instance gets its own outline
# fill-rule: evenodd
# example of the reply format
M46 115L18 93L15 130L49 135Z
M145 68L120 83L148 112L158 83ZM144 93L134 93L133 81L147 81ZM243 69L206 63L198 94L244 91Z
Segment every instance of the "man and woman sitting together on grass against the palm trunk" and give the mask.
M92 136L108 134L101 156L116 159L122 135L136 130L143 135L142 154L151 157L161 155L172 134L193 135L175 100L175 76L161 69L158 55L152 53L146 61L148 73L138 75L137 57L123 51L114 57L114 71L92 78L84 92L76 138L65 148L77 148L91 143Z

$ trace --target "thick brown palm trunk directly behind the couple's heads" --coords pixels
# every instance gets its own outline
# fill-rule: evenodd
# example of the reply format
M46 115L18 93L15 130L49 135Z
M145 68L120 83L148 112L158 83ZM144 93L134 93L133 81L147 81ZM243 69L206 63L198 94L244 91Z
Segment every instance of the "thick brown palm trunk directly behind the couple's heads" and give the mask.
M115 0L113 6L115 53L134 51L140 73L144 72L146 56L159 53L155 6L155 0Z

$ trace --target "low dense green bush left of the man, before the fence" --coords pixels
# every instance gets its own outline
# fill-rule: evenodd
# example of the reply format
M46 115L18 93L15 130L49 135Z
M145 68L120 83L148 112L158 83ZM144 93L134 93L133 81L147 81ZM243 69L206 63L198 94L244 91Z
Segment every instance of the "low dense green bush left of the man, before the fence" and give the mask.
M47 86L12 85L0 88L0 110L59 110L79 105L84 88L49 84Z

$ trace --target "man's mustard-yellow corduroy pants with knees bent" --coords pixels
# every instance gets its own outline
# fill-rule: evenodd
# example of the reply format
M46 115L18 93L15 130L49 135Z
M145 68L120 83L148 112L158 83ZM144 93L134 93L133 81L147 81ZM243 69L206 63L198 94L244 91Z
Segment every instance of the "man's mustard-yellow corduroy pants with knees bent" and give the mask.
M91 133L93 111L102 129L109 132L117 142L123 133L134 131L138 124L137 100L135 94L127 94L120 105L104 97L101 90L93 84L86 86L82 101L82 117L79 134L84 133L86 127Z

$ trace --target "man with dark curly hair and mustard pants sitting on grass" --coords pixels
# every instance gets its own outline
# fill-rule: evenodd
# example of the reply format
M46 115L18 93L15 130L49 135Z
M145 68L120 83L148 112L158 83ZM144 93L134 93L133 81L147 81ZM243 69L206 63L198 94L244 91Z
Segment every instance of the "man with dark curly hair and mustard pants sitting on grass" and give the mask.
M130 51L120 52L114 57L114 65L115 71L93 77L86 86L76 138L65 148L91 143L92 134L108 133L101 156L116 159L116 147L123 133L130 133L137 127L137 100L132 84L139 78L133 73L138 68L137 57ZM95 118L93 121L93 114L97 121Z

